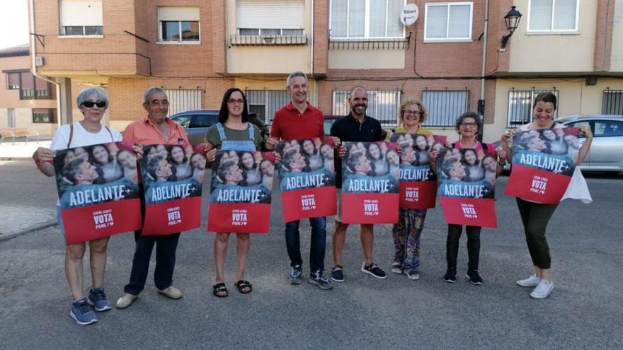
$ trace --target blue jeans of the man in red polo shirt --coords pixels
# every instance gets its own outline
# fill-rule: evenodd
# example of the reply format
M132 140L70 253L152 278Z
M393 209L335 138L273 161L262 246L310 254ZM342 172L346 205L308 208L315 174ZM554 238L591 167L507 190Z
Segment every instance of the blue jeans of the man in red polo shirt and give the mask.
M301 243L299 238L300 221L285 223L285 245L290 257L290 266L303 264ZM309 250L309 267L311 272L324 271L324 252L326 248L326 218L309 218L311 225L311 247Z

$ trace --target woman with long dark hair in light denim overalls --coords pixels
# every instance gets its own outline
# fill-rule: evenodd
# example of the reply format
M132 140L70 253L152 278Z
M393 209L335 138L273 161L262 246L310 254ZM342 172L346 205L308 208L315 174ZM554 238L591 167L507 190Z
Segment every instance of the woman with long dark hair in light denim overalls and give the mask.
M227 136L229 135L229 136ZM228 151L256 151L261 144L260 132L248 122L248 112L244 93L238 88L225 92L219 112L219 122L210 127L205 134L207 147L213 148L207 153L208 160L214 161L217 149ZM215 238L215 262L217 269L216 284L213 293L225 297L229 293L224 284L224 264L227 254L229 233L217 232ZM244 279L244 266L251 245L248 233L236 233L236 252L238 254L238 273L234 284L240 293L249 293L253 286Z

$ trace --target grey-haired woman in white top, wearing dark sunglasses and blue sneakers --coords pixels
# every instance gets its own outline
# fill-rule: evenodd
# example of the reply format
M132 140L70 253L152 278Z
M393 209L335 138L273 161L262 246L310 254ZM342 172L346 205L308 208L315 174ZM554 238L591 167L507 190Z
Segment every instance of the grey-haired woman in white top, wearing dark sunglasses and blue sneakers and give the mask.
M77 103L84 119L59 127L52 137L50 148L39 147L33 153L33 160L37 163L37 168L47 176L51 177L55 174L52 165L55 151L122 140L119 132L101 124L104 112L108 107L108 96L105 91L101 88L85 88L78 94ZM58 202L57 218L59 228L63 231L61 209ZM103 288L107 245L108 237L88 242L92 287L87 297L82 293L82 260L86 249L85 244L77 243L65 247L65 275L74 299L69 315L80 325L90 325L97 322L97 316L93 313L91 305L96 311L110 310L110 302L106 298Z

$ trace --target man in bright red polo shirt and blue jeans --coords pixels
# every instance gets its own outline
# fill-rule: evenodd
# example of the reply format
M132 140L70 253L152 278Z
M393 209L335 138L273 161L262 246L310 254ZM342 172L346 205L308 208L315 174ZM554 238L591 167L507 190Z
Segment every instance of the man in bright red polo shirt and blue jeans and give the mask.
M307 77L302 71L295 71L286 80L290 103L275 112L268 149L274 149L280 139L300 140L324 136L322 112L307 102ZM337 147L340 140L333 138ZM301 247L299 241L300 221L285 223L285 245L290 257L290 284L300 284L302 278ZM331 289L331 281L324 276L324 255L326 249L326 218L309 218L311 225L311 249L309 252L310 276L307 281L321 289Z

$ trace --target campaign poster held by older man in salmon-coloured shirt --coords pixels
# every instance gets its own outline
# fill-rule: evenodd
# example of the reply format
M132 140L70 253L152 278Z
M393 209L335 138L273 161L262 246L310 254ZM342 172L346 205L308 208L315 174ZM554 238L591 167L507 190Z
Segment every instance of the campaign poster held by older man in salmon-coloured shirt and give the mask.
M143 146L142 235L170 235L201 225L204 145Z

